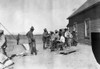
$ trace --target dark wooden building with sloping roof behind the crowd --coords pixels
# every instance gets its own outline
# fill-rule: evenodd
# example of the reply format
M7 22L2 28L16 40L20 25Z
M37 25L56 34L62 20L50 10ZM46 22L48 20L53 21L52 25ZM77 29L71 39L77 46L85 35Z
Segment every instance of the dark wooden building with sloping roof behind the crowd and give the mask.
M100 0L87 0L67 19L67 27L77 31L78 41L91 44L91 33L100 32Z

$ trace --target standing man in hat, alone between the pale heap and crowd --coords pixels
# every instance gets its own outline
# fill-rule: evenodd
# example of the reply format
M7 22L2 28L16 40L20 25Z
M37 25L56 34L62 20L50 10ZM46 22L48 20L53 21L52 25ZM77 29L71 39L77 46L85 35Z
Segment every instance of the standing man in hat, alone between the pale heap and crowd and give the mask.
M33 35L33 31L34 31L34 27L32 26L30 28L30 31L26 34L26 36L28 37L28 42L29 42L29 46L30 46L30 54L35 53L35 55L37 55L37 50L36 50L36 41Z

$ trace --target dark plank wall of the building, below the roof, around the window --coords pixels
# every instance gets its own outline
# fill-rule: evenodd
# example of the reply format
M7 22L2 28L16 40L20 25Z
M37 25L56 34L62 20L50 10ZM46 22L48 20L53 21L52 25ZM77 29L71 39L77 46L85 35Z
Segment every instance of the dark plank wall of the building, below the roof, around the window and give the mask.
M85 20L90 19L89 39L85 38ZM77 22L78 41L91 44L91 32L100 32L100 3L69 18L69 30L72 31L74 23Z

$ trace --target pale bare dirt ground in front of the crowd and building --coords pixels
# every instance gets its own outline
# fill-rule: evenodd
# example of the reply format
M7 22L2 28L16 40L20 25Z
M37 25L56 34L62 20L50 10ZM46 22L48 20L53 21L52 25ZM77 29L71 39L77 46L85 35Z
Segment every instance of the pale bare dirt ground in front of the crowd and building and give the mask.
M36 42L38 54L15 57L13 59L14 69L97 69L91 46L79 43L76 52L63 55L59 54L59 51L43 50L41 38L36 38ZM20 43L27 43L27 39L21 39ZM21 46L16 46L16 40L9 40L8 55L13 54L15 50L19 52L24 49Z

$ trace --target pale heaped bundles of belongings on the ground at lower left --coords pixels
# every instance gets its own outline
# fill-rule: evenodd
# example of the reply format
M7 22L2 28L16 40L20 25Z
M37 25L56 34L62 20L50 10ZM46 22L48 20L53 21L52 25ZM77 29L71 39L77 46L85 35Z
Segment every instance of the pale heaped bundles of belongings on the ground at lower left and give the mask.
M7 57L2 52L0 52L0 69L12 69L14 62L12 59L17 56L26 56L29 54L29 45L22 44L16 45L10 55Z

